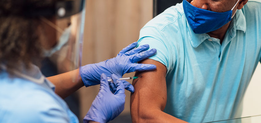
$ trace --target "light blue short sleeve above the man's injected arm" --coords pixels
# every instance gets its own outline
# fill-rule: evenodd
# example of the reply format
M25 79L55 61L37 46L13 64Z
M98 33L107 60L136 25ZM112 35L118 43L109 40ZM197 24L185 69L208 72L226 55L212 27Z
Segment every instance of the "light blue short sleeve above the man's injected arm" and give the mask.
M167 68L167 73L175 63L175 49L171 47L164 33L156 27L145 27L140 31L138 46L148 44L150 49L156 49L157 53L150 59L161 62ZM149 49L149 50L150 50ZM174 50L174 51L173 51Z

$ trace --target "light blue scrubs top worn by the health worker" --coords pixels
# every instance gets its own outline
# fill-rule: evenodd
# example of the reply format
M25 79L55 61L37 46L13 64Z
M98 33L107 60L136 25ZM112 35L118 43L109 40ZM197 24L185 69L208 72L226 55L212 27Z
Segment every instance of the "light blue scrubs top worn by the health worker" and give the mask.
M0 123L78 123L37 66L0 73Z

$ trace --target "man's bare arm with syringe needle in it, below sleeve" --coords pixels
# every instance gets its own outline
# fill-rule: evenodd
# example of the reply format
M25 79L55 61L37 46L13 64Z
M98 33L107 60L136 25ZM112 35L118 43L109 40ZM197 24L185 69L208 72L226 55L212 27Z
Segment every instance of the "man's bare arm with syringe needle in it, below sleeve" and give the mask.
M154 64L157 69L148 72L136 72L141 76L133 81L135 92L130 96L131 119L134 123L140 122L176 122L184 123L163 110L167 101L166 67L160 62L146 59L142 64Z

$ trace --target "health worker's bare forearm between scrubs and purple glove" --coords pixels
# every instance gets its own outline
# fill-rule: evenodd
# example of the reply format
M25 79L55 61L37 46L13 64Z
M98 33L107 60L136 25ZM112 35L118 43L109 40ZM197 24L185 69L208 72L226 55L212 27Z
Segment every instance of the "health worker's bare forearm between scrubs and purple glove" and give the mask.
M62 98L68 97L70 94L84 86L79 74L79 69L48 77L47 79L56 86L55 93Z

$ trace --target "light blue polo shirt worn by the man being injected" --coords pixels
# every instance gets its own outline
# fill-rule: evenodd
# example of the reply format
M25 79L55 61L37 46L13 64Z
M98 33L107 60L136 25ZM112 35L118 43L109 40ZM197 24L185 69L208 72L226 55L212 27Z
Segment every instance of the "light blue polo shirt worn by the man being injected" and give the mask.
M157 49L150 59L167 68L164 112L188 122L234 118L261 58L261 0L236 12L221 45L191 30L182 3L148 22L138 44Z

